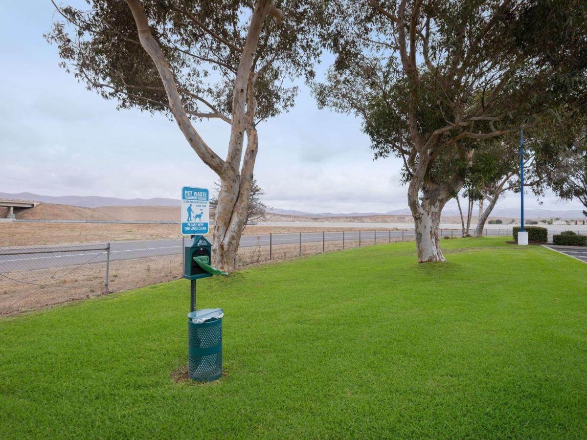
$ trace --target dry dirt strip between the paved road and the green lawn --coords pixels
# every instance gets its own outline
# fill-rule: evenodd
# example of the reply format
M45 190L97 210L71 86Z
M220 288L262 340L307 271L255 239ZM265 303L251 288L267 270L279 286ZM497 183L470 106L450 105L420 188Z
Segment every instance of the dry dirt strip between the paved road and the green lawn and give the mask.
M377 244L383 243L387 243L387 240L377 240ZM373 242L363 242L362 245L373 246ZM358 246L358 240L345 241L345 249ZM301 256L340 251L342 247L342 241L325 242L324 249L322 243L302 243ZM299 256L299 244L272 247L272 261L299 258ZM268 261L269 246L241 248L237 256L237 269ZM182 270L181 255L113 260L110 262L107 293L177 280L182 277ZM105 275L106 263L0 274L0 316L106 295Z

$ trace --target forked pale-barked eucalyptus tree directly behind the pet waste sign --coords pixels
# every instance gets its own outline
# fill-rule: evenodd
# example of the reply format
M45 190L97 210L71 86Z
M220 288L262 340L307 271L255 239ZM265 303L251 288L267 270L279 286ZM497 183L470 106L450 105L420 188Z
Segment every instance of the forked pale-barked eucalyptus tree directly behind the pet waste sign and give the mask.
M315 13L303 0L88 0L55 5L46 39L61 65L119 109L174 119L185 140L221 180L212 264L234 259L247 213L259 122L294 105L299 76L313 76L320 55ZM228 124L227 157L198 124ZM245 144L246 138L246 144ZM164 154L165 147L161 146Z

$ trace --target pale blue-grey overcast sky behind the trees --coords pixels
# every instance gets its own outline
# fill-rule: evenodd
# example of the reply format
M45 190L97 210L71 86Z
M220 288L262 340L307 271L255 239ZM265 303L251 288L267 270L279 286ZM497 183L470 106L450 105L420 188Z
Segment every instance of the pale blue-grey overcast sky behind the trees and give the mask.
M88 92L58 67L57 49L42 36L53 7L48 0L38 3L32 8L5 2L0 16L0 191L176 198L183 185L211 187L215 174L176 124L139 110L118 111L114 101ZM266 204L309 212L406 208L399 160L373 161L360 121L318 110L299 85L295 108L259 126L255 177ZM214 120L195 123L222 157L228 127ZM582 208L552 194L542 200L543 208ZM453 202L447 209L456 209ZM519 195L510 194L498 207L518 203ZM539 207L531 195L527 207Z

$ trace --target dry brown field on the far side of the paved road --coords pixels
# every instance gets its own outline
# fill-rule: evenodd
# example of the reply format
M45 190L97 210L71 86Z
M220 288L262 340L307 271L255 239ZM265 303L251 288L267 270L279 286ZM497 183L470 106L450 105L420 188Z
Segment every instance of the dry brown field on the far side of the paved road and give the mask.
M352 231L373 231L353 228ZM244 235L286 232L342 232L345 228L297 226L247 226ZM348 228L346 229L348 230ZM377 229L387 231L388 229ZM65 245L107 243L180 237L179 225L101 224L101 223L0 223L0 246Z

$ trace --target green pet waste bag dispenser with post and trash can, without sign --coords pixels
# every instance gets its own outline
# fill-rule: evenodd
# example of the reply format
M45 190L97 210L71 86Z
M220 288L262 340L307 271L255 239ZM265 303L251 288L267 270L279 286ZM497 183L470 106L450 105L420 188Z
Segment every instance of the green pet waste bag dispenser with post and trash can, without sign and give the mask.
M188 314L188 373L190 379L213 381L222 375L222 309L195 309L196 280L212 275L227 275L213 268L212 245L195 235L184 249L184 278L191 280L191 305Z

